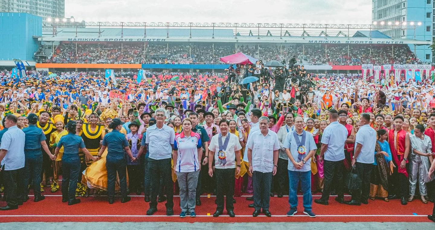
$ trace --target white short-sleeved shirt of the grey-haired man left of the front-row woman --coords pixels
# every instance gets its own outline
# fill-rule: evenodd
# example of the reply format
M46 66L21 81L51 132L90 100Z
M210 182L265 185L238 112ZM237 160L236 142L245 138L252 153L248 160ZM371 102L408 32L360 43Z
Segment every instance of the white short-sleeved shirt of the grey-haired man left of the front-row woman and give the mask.
M175 140L173 128L163 125L161 129L157 124L148 127L145 143L148 144L149 157L154 160L162 160L172 157L172 144Z

